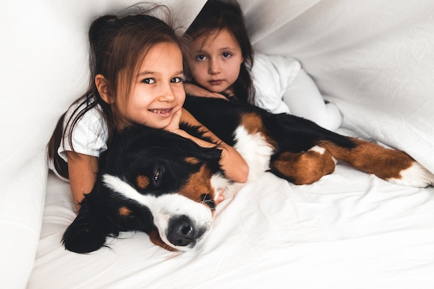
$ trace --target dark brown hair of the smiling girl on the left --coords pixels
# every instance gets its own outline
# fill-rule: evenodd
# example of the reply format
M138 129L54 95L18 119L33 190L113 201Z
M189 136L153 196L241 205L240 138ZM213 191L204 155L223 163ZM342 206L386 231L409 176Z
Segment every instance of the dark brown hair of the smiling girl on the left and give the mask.
M130 14L132 9L143 9L132 6L125 10L123 15L105 15L92 22L89 28L89 88L85 95L74 103L77 106L71 118L65 120L65 114L60 117L48 145L48 157L53 160L55 169L62 177L68 177L67 164L58 155L57 150L65 136L68 136L72 147L72 131L86 112L99 105L107 123L109 140L116 130L112 108L98 93L94 82L95 76L105 76L110 96L116 97L119 88L122 94L128 96L135 80L134 75L137 74L146 53L155 45L162 42L175 43L180 46L181 51L186 51L184 40L171 26L157 17L148 15L156 8L166 7L153 6L146 11L140 11L139 14Z

